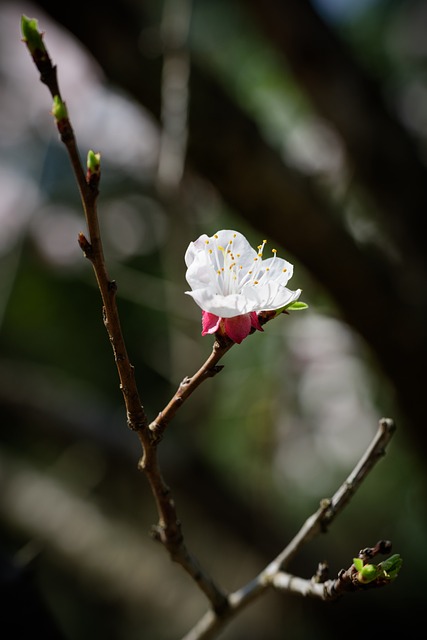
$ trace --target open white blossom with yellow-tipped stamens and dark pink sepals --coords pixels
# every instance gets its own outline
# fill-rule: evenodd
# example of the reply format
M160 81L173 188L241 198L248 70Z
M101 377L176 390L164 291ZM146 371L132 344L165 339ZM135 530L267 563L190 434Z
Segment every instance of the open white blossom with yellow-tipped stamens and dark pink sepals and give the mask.
M205 314L218 321L251 314L246 335L251 326L260 329L254 314L286 307L301 294L300 289L291 291L286 287L292 277L292 264L278 258L275 249L272 258L263 260L265 244L266 240L255 251L241 233L227 229L211 237L201 235L190 243L185 254L186 279L192 289L186 293ZM204 315L204 334L219 328L220 322L213 318L208 322Z

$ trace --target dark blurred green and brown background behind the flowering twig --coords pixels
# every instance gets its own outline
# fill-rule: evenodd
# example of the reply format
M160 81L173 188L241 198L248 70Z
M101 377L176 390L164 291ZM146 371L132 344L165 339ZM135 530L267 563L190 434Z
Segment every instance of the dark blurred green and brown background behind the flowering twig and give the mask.
M161 444L190 549L226 590L343 482L382 416L398 431L290 569L331 575L393 542L396 583L324 604L269 593L227 640L418 630L427 604L427 2L0 0L0 611L15 637L169 640L206 609L151 540L50 96L37 18L82 157L153 419L212 346L184 295L191 240L237 229L295 265L308 311L226 356ZM6 622L5 622L6 626Z

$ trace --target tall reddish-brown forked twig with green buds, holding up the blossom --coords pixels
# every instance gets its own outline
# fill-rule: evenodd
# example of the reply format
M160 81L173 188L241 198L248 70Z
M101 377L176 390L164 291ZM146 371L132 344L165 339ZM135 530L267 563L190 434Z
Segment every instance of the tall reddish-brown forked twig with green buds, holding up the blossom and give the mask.
M24 26L27 28L28 23L24 23L23 21L23 30ZM224 344L222 347L220 347L218 342L215 343L213 354L208 359L206 365L193 376L190 384L186 385L187 388L184 389L182 393L178 392L164 412L165 416L158 422L153 423L151 428L148 428L148 419L140 401L134 368L130 363L121 329L116 304L117 286L114 281L110 280L105 264L97 213L98 185L100 180L99 156L96 158L95 154L93 154L95 159L98 160L98 164L89 168L85 177L65 102L62 100L59 92L56 68L52 65L41 34L37 32L36 23L33 27L34 26L33 31L29 32L29 37L24 38L24 41L40 71L42 82L47 85L54 99L53 115L55 116L61 140L67 149L78 183L89 231L89 240L81 233L79 234L78 241L85 256L92 263L101 293L103 320L113 348L114 359L120 379L120 388L126 407L128 426L137 433L142 446L143 456L139 463L139 468L144 471L150 484L159 516L159 523L157 527L154 528L154 534L155 537L164 544L171 558L184 568L205 593L213 610L222 613L228 606L225 594L214 583L212 578L203 571L196 558L192 556L184 543L181 523L177 516L175 503L159 467L157 444L160 440L160 431L165 428L166 424L173 417L179 404L181 404L204 379L213 374L215 363L230 346L232 346L232 343ZM35 38L38 36L38 39L36 38L36 48L31 46L32 36Z

